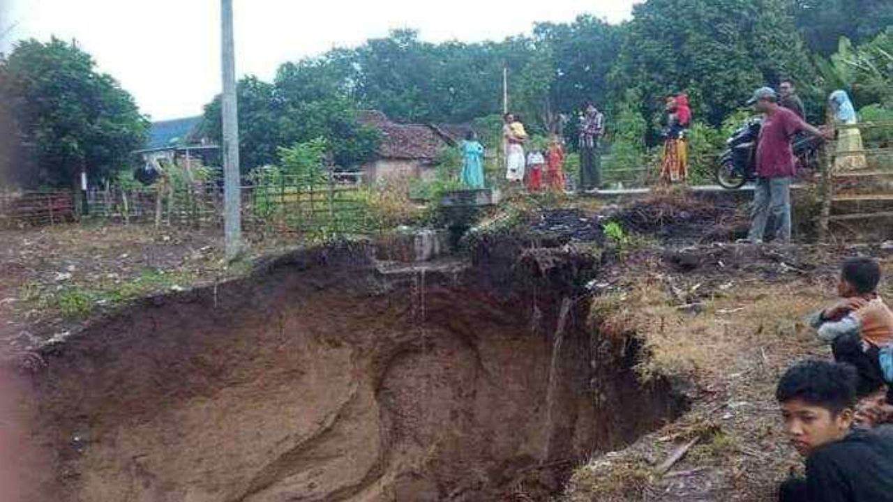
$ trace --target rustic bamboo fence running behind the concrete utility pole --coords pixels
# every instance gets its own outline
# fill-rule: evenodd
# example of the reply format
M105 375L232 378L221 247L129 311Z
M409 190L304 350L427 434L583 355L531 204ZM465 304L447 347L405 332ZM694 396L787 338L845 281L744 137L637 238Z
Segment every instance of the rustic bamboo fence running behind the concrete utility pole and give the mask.
M243 227L261 233L350 233L370 230L365 191L356 172L327 172L313 180L298 176L253 176L241 187ZM88 219L156 226L222 226L222 180L172 187L107 186L77 191L0 192L4 228Z

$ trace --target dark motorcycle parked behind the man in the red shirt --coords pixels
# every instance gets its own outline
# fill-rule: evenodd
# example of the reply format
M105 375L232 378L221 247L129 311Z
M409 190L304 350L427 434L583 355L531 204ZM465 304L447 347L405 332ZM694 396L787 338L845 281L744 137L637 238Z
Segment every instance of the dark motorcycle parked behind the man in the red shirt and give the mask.
M747 181L756 180L756 142L760 138L763 121L752 119L726 140L726 149L716 167L716 182L722 188L734 190ZM797 159L797 178L808 178L819 168L818 151L824 140L807 135L796 135L792 145Z

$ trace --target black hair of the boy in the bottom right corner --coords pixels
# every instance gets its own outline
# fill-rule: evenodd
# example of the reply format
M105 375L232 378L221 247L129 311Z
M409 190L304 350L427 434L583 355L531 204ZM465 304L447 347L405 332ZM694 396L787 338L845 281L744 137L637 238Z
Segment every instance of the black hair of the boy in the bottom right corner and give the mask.
M780 403L799 399L837 415L855 405L855 368L818 359L794 364L775 389Z

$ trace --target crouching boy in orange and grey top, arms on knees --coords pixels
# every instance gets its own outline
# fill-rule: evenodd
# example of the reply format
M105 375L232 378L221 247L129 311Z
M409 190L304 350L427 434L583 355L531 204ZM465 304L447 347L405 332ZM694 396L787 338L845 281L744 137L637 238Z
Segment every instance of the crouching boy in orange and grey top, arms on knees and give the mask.
M831 344L834 360L855 366L858 397L884 388L880 348L893 342L893 312L878 296L880 264L869 257L849 258L840 268L838 303L809 316L819 339ZM893 393L889 393L893 402Z

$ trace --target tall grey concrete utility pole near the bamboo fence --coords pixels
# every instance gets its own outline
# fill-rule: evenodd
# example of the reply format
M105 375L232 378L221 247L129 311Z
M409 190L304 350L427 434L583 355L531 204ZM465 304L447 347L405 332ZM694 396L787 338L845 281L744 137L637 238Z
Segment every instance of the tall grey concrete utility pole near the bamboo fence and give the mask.
M241 195L238 171L238 107L236 56L232 28L232 0L221 0L221 58L223 68L223 234L226 255L235 258L242 248Z

